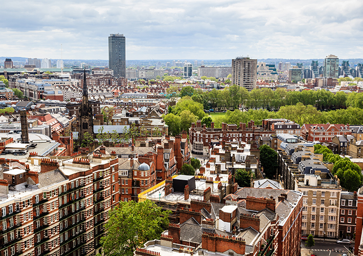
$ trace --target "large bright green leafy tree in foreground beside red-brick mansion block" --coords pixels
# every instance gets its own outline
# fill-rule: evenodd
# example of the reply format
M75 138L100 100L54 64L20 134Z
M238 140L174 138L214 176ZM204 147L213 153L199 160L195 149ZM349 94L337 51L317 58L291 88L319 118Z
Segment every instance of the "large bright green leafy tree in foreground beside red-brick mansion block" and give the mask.
M149 240L160 239L169 225L171 211L149 200L122 202L109 211L105 224L106 236L101 238L105 255L133 255Z

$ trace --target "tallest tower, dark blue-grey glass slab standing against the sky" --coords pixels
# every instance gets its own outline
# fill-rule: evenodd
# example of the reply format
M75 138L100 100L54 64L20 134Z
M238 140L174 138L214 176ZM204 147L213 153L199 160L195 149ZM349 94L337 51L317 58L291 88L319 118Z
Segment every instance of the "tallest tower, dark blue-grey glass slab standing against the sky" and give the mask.
M110 34L108 37L108 65L116 77L126 77L126 37Z

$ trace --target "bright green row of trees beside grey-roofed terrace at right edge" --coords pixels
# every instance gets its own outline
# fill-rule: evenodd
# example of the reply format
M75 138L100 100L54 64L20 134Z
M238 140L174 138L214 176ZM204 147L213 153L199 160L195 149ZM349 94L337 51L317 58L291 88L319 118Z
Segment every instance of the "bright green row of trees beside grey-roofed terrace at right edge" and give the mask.
M323 161L333 163L332 175L336 175L341 181L341 186L349 191L356 191L363 182L363 175L359 165L349 158L342 158L333 154L328 147L316 144L314 153L323 154Z

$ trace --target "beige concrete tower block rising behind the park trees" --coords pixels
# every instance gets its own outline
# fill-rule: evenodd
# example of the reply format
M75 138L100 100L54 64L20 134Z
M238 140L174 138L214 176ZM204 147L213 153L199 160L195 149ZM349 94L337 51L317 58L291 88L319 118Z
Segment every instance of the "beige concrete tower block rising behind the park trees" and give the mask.
M257 86L257 59L236 57L232 59L232 84L245 87L248 91Z

